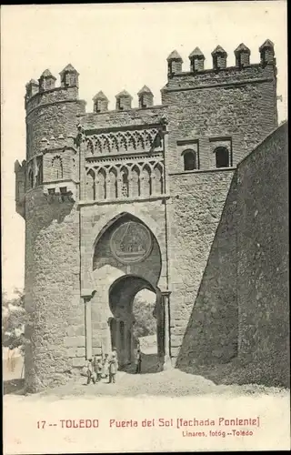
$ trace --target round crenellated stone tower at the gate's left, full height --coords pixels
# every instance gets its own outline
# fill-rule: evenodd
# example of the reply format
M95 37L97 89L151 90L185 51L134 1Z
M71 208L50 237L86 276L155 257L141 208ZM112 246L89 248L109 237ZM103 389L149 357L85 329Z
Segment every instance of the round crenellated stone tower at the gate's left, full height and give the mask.
M85 355L74 139L85 102L75 68L60 75L59 87L49 70L26 85L26 161L15 167L16 208L25 217L27 391L65 383Z

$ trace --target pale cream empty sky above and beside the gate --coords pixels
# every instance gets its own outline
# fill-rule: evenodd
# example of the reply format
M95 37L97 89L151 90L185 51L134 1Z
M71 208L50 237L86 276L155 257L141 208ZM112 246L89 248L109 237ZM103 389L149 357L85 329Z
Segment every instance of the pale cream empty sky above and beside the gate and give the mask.
M25 84L46 68L57 78L71 63L79 76L80 99L92 112L103 90L109 109L126 89L134 96L146 84L160 104L166 84L166 57L176 49L188 56L199 46L211 67L211 52L222 45L227 65L245 43L251 63L266 38L275 44L279 122L287 112L286 2L190 2L109 5L5 5L1 8L1 183L2 288L12 296L24 288L25 220L15 213L14 164L25 159Z

